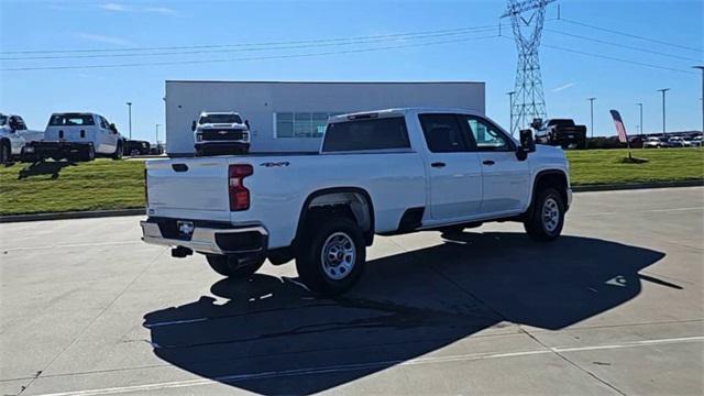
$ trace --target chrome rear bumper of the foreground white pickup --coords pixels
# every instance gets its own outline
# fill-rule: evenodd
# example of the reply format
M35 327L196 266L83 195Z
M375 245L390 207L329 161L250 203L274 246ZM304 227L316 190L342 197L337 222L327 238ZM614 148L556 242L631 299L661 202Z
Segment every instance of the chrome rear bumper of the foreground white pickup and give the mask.
M179 234L178 220L150 218L141 221L142 240L146 243L187 248L204 254L263 255L268 232L262 226L233 227L229 223L194 221L194 231Z

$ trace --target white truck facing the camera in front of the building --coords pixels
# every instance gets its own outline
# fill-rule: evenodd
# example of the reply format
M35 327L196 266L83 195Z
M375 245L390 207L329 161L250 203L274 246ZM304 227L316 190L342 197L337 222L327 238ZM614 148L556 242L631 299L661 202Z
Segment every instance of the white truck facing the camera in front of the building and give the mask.
M204 111L191 124L196 156L245 154L250 151L250 125L234 111Z

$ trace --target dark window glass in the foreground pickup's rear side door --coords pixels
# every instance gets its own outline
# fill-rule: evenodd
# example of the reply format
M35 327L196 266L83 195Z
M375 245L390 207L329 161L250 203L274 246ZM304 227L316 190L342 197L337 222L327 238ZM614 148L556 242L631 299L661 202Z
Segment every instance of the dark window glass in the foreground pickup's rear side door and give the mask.
M420 114L418 118L428 150L433 153L468 151L466 141L454 114Z

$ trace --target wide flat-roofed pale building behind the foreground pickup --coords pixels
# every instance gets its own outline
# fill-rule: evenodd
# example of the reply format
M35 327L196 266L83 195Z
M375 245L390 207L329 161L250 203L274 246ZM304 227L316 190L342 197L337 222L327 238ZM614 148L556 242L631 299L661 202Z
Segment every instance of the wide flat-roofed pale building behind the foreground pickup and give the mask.
M484 82L166 81L166 152L191 155L201 111L237 111L250 122L252 152L317 151L328 117L444 107L484 113Z

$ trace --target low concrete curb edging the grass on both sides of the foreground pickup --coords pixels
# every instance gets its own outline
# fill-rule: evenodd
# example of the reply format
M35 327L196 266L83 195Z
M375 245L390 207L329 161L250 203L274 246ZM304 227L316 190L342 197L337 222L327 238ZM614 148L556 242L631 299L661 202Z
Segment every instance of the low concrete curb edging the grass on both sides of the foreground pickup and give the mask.
M588 191L613 191L613 190L629 190L629 189L696 187L696 186L704 186L704 179L686 180L686 182L666 182L666 183L630 183L630 184L618 184L618 185L572 186L572 190L574 193L588 193ZM103 218L103 217L140 216L140 215L146 215L144 212L144 209L118 209L118 210L73 211L73 212L58 212L58 213L14 215L14 216L0 216L0 223L43 221L43 220L92 219L92 218Z

